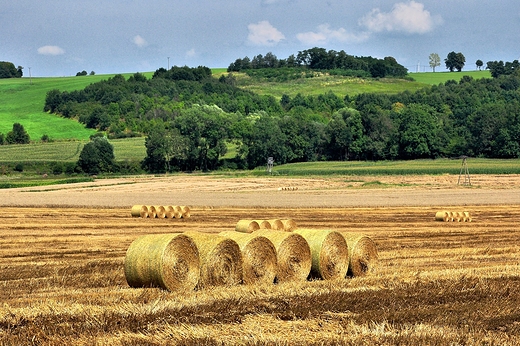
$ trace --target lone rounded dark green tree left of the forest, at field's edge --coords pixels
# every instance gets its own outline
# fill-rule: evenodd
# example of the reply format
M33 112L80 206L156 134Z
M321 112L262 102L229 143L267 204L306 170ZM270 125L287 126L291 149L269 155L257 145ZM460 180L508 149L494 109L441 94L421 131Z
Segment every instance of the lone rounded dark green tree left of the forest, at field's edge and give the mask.
M116 167L114 146L105 137L94 137L81 150L78 166L88 174L113 171Z

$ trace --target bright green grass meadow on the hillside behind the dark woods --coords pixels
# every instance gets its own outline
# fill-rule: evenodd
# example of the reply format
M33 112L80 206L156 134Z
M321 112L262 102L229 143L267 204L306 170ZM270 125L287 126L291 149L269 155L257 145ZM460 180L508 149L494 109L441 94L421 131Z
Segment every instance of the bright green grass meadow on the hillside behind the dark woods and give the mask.
M215 77L227 74L226 69L213 69ZM125 73L128 78L133 73ZM153 72L144 75L151 78ZM320 75L285 83L252 80L243 73L236 74L238 85L259 94L269 94L280 98L283 94L291 97L298 93L317 95L332 91L343 97L366 92L397 93L404 90L418 90L427 85L446 80L459 80L463 75L474 78L489 77L489 71L412 73L415 81L393 79L359 79L341 76ZM0 79L0 133L6 134L15 122L21 123L32 141L38 142L43 135L52 140L76 139L85 141L95 133L82 124L70 119L43 112L45 96L49 90L72 91L83 89L91 83L108 79L113 75L93 75L79 77L38 77Z

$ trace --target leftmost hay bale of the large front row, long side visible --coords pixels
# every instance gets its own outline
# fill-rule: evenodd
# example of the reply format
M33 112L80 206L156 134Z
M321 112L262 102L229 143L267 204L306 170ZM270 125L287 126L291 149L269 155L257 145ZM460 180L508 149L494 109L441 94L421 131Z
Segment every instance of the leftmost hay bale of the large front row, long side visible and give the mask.
M130 287L193 290L200 278L199 251L183 234L149 234L130 244L125 256Z

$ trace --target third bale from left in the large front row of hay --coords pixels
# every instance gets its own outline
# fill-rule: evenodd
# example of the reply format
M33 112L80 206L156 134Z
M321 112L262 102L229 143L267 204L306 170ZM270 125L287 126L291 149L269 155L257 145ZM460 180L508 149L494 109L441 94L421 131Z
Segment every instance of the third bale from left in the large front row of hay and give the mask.
M235 231L221 232L220 235L233 239L240 247L244 284L272 284L274 282L277 269L276 248L269 239Z

